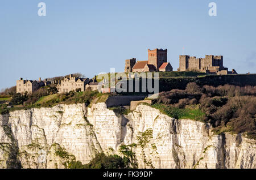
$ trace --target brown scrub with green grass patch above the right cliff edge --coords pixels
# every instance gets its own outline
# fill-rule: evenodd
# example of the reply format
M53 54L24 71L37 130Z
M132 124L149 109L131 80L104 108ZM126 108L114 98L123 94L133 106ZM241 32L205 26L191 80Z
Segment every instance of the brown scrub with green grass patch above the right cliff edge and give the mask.
M210 123L216 134L246 132L256 139L256 87L189 83L185 90L160 92L151 106L170 117Z

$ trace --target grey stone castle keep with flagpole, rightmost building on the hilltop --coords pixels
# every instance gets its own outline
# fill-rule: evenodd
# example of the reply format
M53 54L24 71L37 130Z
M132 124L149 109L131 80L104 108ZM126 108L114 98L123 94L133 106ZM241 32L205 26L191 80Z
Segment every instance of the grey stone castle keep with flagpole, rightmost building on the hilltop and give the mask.
M222 55L205 55L205 58L180 55L180 67L178 71L201 71L209 74L237 74L236 70L228 71L223 66Z

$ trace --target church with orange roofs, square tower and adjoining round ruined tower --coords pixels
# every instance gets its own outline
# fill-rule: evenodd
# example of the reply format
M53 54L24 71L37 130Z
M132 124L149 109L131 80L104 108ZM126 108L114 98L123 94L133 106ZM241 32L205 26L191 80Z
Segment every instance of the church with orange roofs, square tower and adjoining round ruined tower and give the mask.
M137 61L135 58L125 60L125 72L157 72L172 71L167 62L167 49L148 49L148 60Z

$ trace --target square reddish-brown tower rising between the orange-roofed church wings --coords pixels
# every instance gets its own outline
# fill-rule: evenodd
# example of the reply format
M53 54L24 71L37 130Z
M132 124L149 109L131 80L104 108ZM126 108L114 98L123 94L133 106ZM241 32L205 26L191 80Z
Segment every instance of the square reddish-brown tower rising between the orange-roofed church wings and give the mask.
M158 70L164 62L167 62L167 49L148 49L148 65L154 65Z

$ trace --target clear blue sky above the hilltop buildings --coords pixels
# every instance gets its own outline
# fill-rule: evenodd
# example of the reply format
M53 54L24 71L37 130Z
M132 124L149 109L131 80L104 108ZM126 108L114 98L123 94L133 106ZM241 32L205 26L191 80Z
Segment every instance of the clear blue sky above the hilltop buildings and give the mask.
M47 16L38 16L38 3ZM209 16L209 3L217 16ZM224 66L255 73L256 1L1 0L0 89L20 77L38 79L124 69L129 58L147 60L147 49L179 55L224 55Z

